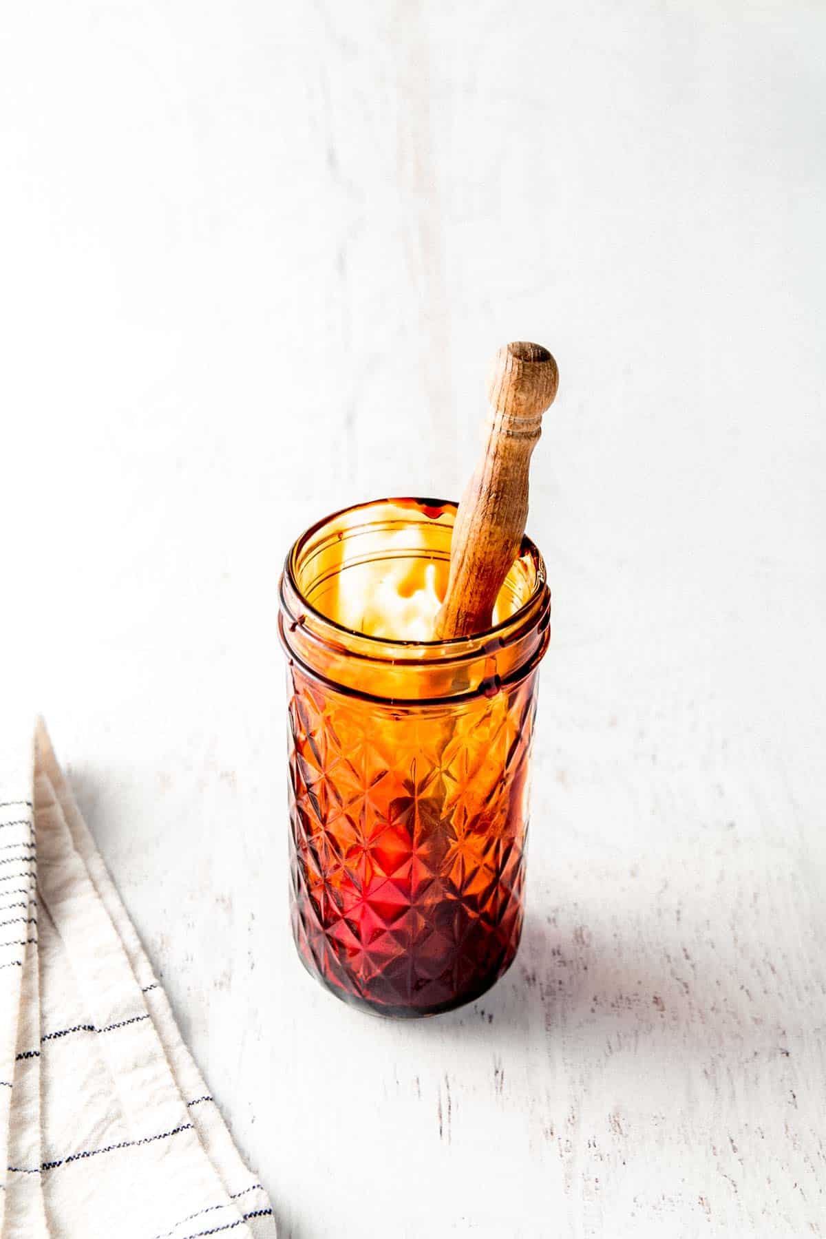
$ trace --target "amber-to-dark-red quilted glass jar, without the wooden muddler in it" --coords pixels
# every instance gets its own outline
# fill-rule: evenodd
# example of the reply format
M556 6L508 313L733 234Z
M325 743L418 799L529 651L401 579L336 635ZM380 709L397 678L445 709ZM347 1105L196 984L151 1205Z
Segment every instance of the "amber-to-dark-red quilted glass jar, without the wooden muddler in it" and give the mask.
M281 577L292 932L328 990L388 1016L478 997L521 933L550 636L540 553L523 540L477 636L390 641L339 622L383 566L399 579L435 564L442 593L454 515L436 499L348 508L296 541Z

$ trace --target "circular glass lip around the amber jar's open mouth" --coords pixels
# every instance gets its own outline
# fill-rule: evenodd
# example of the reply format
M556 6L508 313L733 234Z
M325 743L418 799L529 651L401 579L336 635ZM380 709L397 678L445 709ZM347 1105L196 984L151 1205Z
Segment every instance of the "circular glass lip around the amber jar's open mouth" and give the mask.
M421 652L419 655L420 658L426 657L428 663L438 663L442 660L453 662L457 657L461 657L463 652L469 654L478 650L480 647L487 647L492 642L498 642L498 639L505 637L508 633L521 629L524 622L534 613L537 600L540 600L542 595L547 593L545 560L542 559L536 544L525 534L523 535L516 560L525 560L530 563L534 570L533 589L519 606L516 606L509 615L499 620L497 623L490 624L488 628L483 628L479 632L471 633L468 636L416 639L406 637L375 636L373 633L363 632L358 628L339 623L338 620L313 606L313 603L307 598L306 592L298 581L297 569L301 561L301 555L311 544L312 539L320 534L326 525L334 525L336 522L343 522L348 515L355 513L359 513L369 520L370 512L375 512L383 507L419 509L422 515L430 520L437 520L446 514L454 518L458 509L458 504L451 499L396 497L368 499L364 503L349 504L348 507L339 508L337 512L332 512L322 517L313 525L306 529L287 551L281 586L282 602L284 585L287 582L290 592L296 600L300 601L302 610L307 612L317 623L324 628L332 629L333 633L341 633L342 639L346 642L355 639L359 646L364 643L363 648L365 652L370 649L373 650L372 657L381 657L379 653L381 649L385 650L385 658L388 654L393 658L391 652L394 649L398 649L400 653L404 652L407 655L411 650L416 649ZM438 657L438 650L445 650L443 659ZM370 657L370 654L367 657ZM406 662L406 658L402 657L398 659L398 662Z

